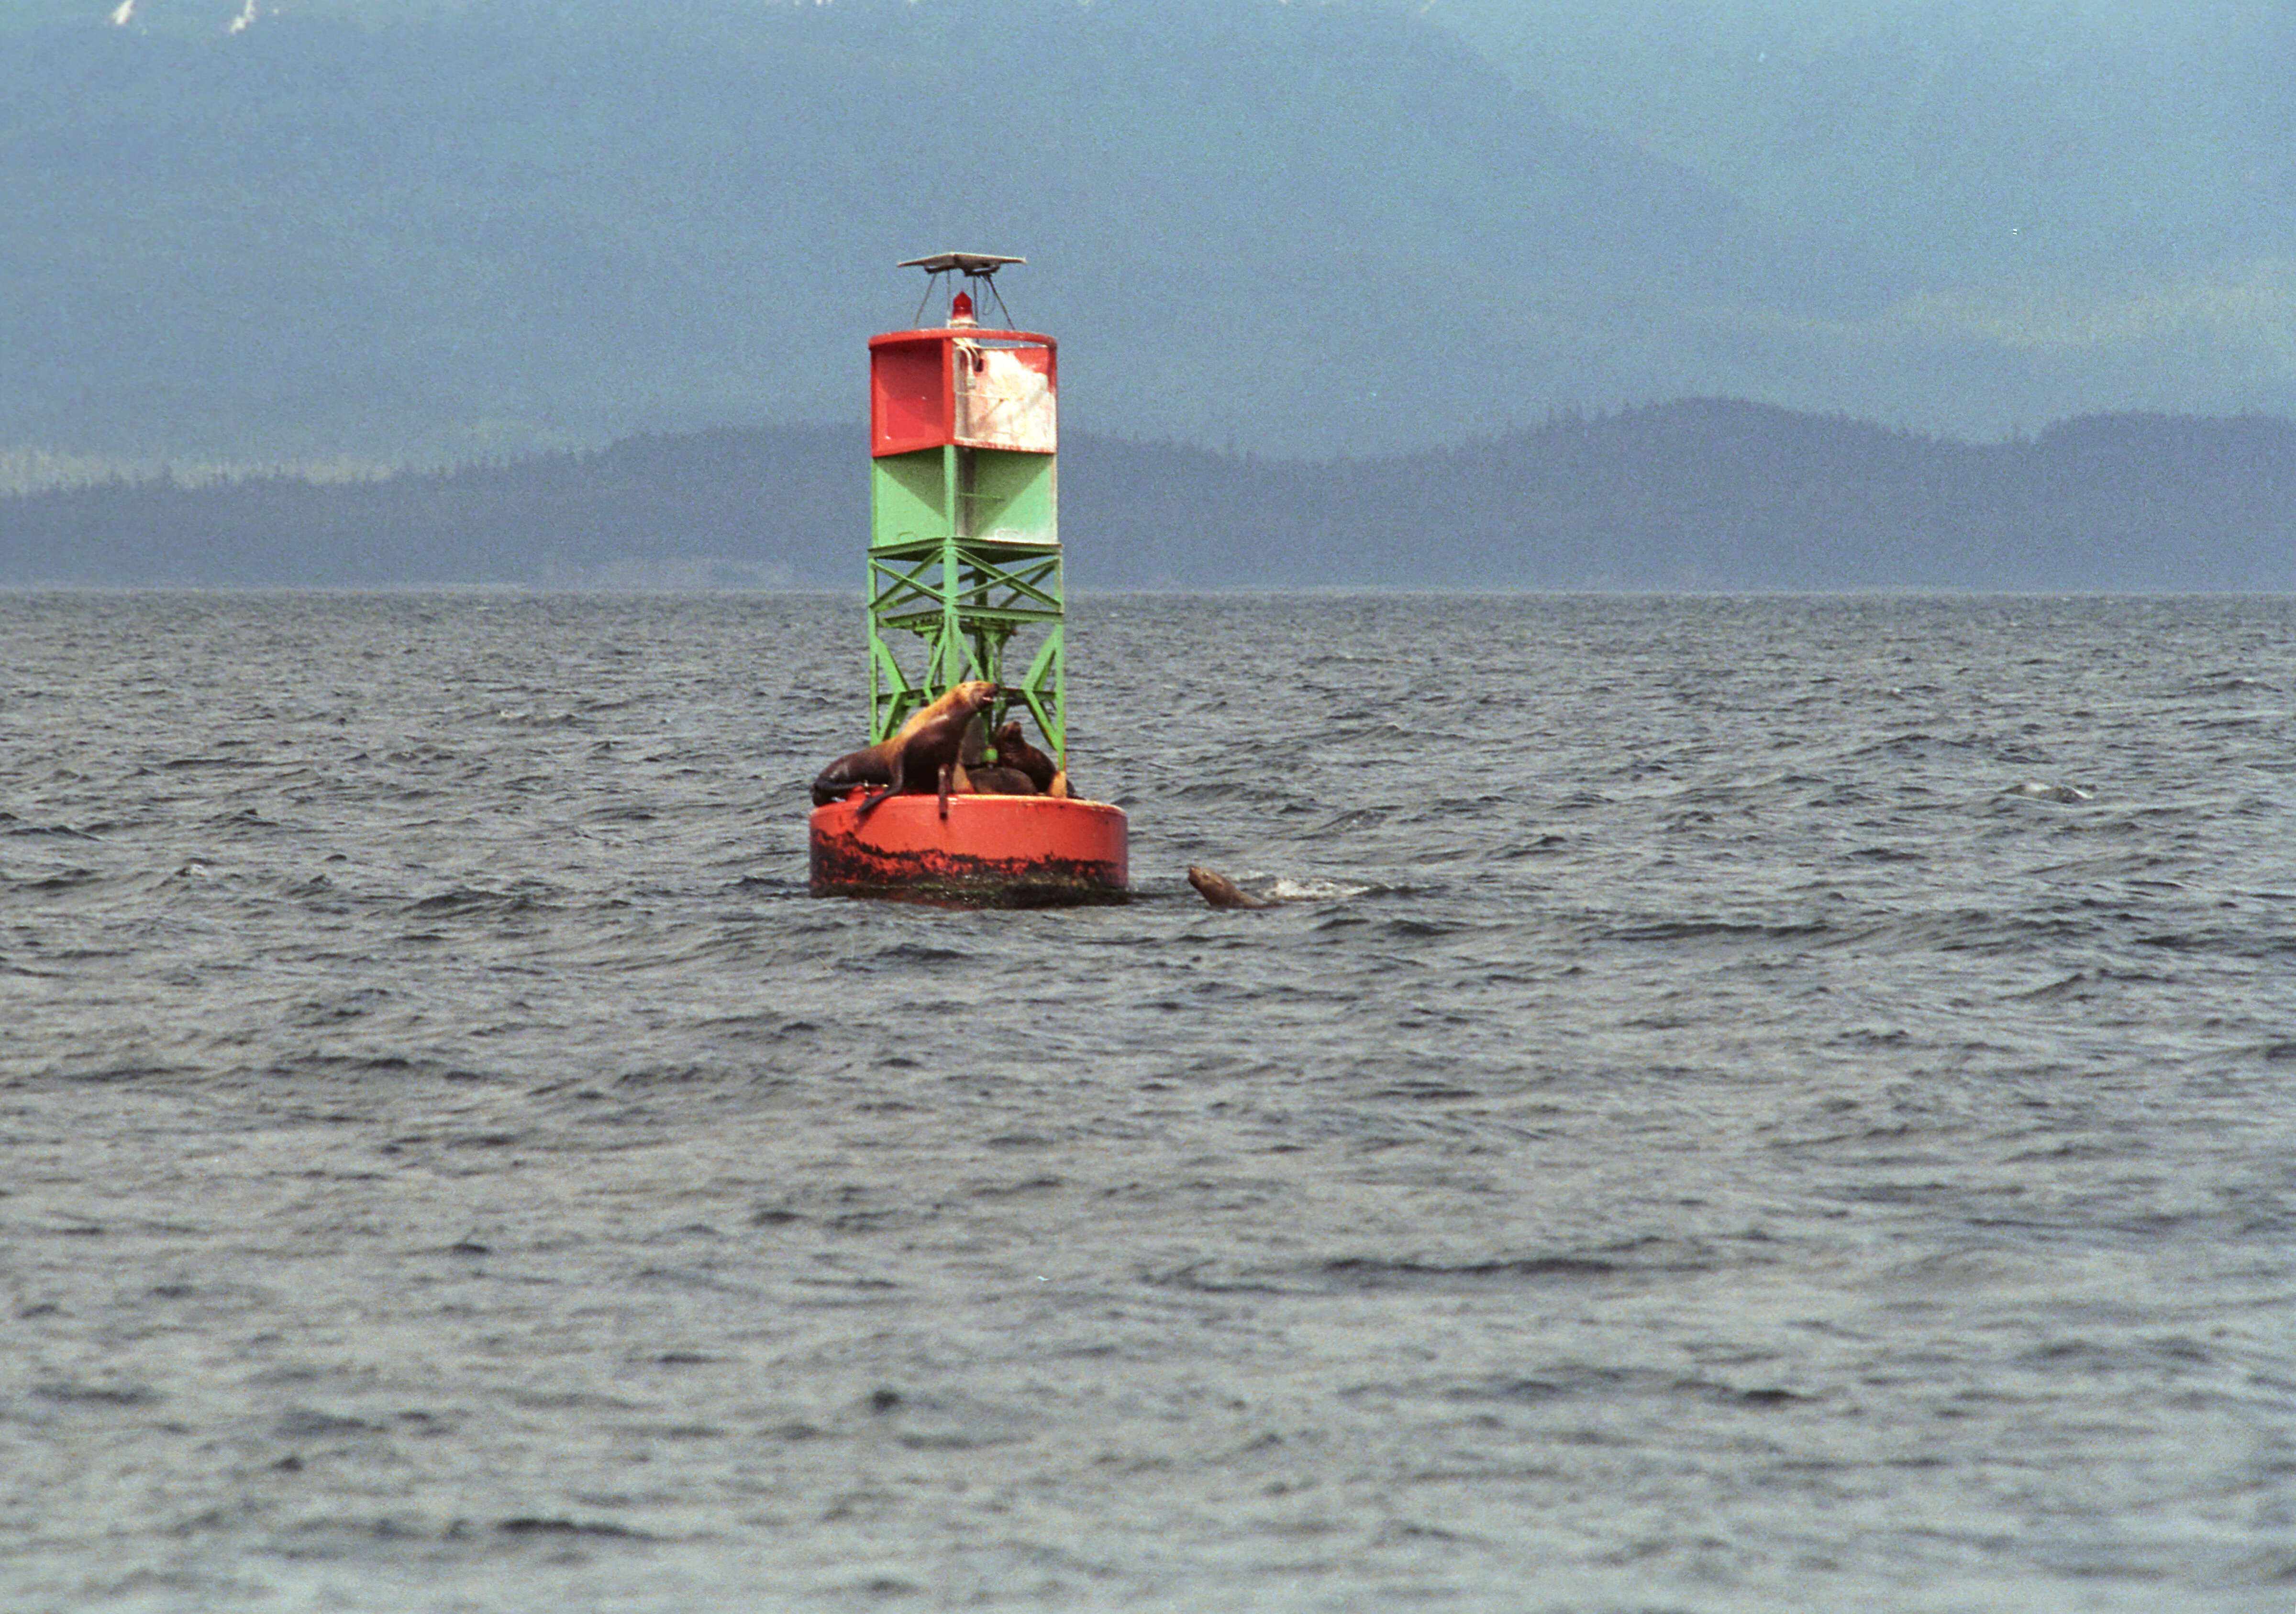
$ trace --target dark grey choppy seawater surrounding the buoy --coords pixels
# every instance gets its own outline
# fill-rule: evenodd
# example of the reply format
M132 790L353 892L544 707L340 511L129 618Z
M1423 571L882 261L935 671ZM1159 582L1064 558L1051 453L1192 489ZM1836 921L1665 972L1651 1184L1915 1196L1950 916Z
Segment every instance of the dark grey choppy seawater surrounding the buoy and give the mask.
M0 631L9 1609L2296 1603L2296 602L1091 602L1065 914L852 604Z

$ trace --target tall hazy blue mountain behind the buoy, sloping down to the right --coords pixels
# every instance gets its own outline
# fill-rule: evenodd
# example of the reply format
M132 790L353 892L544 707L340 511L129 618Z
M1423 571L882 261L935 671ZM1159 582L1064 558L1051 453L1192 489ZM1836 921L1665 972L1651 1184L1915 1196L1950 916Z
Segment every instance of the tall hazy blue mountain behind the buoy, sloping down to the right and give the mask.
M1265 448L1336 406L1394 448L1492 420L1495 349L1538 397L1651 393L1603 360L1621 287L1795 312L1832 305L1814 273L1867 287L1350 7L197 11L7 34L0 448L436 461L843 413L861 335L923 289L893 264L941 248L1031 259L1015 317L1141 377L1077 397L1111 427L1219 436L1221 399ZM1412 413L1357 379L1405 310Z

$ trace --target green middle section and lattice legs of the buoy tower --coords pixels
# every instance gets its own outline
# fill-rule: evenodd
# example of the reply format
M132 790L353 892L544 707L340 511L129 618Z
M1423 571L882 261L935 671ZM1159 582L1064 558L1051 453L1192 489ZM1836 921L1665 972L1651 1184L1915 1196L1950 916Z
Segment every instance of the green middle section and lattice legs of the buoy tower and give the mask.
M944 443L870 461L872 742L951 684L987 677L1015 691L1065 767L1061 622L1054 455ZM1029 670L1013 677L1019 654Z

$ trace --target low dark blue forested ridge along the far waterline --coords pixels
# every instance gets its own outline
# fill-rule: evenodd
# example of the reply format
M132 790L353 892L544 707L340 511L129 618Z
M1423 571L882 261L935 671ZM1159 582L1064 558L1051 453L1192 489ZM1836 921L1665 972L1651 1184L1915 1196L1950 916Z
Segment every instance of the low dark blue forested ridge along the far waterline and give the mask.
M859 427L0 498L5 585L859 590ZM1688 399L1343 461L1070 436L1075 588L2296 590L2296 422L1961 443Z

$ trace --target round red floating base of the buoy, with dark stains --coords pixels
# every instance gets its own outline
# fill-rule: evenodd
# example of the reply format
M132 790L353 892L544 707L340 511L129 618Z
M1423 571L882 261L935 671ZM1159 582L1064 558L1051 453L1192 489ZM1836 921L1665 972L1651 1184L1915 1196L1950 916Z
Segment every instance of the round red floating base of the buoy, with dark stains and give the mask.
M859 794L813 808L813 895L964 907L1123 902L1125 815L1068 797Z

